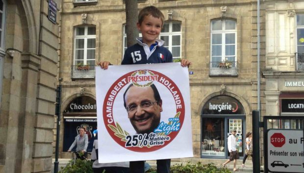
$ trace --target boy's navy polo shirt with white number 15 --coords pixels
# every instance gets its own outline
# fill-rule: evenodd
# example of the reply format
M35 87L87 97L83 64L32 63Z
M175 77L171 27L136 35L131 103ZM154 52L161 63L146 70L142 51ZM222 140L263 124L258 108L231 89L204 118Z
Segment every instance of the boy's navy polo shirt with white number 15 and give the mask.
M136 44L128 47L122 65L172 62L171 52L163 47L163 40L157 40L157 46L150 50L149 46L137 39ZM148 55L147 55L148 54ZM150 55L150 56L149 56ZM147 58L148 57L148 58Z

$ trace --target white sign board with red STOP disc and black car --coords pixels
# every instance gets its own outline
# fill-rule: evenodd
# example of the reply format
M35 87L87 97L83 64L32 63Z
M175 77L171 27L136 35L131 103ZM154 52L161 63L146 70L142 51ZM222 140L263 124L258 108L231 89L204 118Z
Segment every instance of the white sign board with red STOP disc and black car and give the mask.
M304 173L303 130L271 129L267 138L270 172Z

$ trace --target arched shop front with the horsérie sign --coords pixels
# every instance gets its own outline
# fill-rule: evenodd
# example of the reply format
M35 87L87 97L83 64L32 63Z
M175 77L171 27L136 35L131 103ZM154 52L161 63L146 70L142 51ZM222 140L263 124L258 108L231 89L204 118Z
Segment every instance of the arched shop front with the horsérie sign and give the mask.
M202 158L229 157L227 140L236 129L237 149L244 156L246 114L242 104L231 96L215 96L209 99L202 111Z

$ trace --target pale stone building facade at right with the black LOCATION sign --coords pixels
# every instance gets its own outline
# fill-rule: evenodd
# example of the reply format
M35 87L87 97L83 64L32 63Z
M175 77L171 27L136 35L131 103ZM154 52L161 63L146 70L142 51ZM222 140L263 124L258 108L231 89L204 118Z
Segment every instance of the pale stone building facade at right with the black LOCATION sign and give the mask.
M304 1L264 0L265 115L304 115ZM303 128L294 121L277 128Z

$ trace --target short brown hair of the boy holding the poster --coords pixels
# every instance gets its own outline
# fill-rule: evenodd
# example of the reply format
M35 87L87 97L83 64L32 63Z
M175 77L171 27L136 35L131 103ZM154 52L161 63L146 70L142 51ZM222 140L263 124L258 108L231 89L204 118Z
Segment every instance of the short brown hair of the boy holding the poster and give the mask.
M138 23L141 25L141 23L144 21L145 16L152 15L155 18L160 18L161 20L161 27L164 25L165 16L163 13L156 8L155 6L146 6L142 10L140 10L138 14Z

